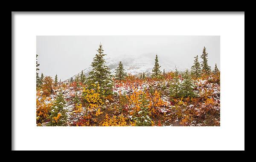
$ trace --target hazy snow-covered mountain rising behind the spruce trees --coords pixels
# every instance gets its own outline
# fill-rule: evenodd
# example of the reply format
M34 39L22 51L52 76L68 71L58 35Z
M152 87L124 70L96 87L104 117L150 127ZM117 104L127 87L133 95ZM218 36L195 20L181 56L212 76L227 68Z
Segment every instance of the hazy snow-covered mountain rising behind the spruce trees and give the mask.
M119 55L115 57L107 57L105 58L106 64L111 69L111 74L114 74L115 69L118 67L118 64L120 61L122 61L122 64L125 68L125 72L127 74L131 75L137 75L140 76L140 74L143 74L145 72L146 76L150 76L152 73L152 68L154 67L154 59L155 54L142 54L142 55ZM171 60L168 59L162 59L159 58L159 65L160 70L163 72L163 69L165 69L166 72L168 71L174 71L175 70L175 63L173 63ZM177 69L179 71L185 70L184 67L176 65ZM83 72L86 76L88 76L89 72L92 70L92 67L86 67L83 69ZM80 74L79 72L78 74ZM75 74L71 77L75 78Z

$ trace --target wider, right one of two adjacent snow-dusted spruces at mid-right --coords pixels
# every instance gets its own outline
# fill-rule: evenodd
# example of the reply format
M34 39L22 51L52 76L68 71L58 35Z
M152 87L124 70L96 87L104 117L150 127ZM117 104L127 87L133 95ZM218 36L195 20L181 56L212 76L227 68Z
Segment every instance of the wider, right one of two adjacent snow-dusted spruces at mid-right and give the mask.
M181 91L183 97L195 97L196 94L194 92L195 84L191 79L189 74L189 70L186 69L185 73L183 74L183 81L181 83Z

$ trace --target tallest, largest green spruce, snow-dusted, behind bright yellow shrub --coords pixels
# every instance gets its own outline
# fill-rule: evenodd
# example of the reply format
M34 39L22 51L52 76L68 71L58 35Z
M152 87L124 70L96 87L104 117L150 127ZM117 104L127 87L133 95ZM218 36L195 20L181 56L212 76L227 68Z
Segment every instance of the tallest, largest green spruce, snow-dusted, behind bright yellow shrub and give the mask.
M87 77L88 88L95 88L95 85L99 84L100 90L105 91L105 95L109 95L113 93L113 81L111 79L110 68L108 68L104 59L106 54L104 54L101 43L96 51L98 53L91 63L93 70L89 72L89 76Z

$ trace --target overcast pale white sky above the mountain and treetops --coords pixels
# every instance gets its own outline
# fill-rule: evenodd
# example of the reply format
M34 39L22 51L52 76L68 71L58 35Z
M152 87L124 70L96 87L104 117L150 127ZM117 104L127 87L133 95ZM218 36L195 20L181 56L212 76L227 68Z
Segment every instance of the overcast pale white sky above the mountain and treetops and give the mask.
M41 72L51 77L58 74L58 80L63 81L81 72L90 66L100 42L106 58L155 53L189 69L205 46L209 65L214 69L217 63L220 69L219 36L37 36L39 75Z

